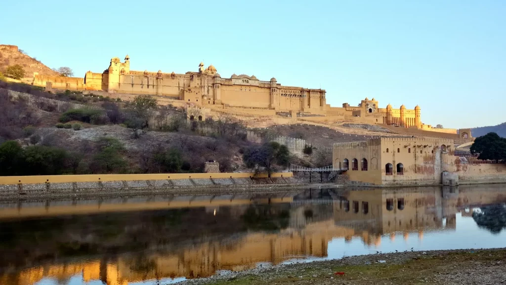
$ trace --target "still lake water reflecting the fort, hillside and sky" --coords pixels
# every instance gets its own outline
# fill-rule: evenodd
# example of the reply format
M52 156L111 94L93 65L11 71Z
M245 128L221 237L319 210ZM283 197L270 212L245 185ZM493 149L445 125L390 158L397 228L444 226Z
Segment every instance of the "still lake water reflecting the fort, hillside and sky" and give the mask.
M504 221L504 203L502 185L1 203L0 284L163 284L378 251L503 248L504 222L472 214Z

